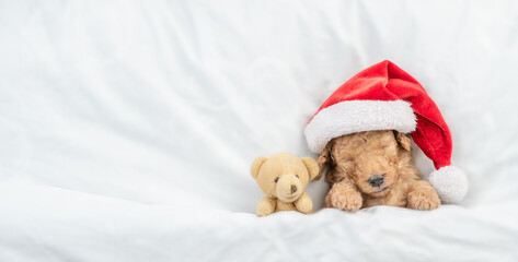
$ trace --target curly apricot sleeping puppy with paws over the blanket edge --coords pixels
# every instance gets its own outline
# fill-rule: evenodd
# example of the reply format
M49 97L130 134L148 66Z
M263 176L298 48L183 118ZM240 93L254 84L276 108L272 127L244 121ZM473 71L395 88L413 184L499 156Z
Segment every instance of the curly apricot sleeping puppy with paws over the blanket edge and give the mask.
M318 163L331 190L325 206L357 211L373 205L434 210L440 205L431 186L411 163L411 141L403 133L366 131L333 139Z

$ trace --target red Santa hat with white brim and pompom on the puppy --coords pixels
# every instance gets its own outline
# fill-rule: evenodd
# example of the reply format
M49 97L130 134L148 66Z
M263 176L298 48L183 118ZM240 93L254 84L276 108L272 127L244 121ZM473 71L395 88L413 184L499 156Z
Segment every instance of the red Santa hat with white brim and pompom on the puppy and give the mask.
M336 90L309 120L304 134L320 154L332 139L362 131L410 133L434 162L428 181L442 203L458 203L468 192L465 174L451 166L451 133L423 86L391 61L377 63Z

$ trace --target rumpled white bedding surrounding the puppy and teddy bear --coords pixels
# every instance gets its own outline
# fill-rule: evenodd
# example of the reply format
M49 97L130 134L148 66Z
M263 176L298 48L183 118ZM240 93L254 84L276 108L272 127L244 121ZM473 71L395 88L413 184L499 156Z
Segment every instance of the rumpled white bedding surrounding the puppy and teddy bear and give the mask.
M384 59L465 200L255 217L254 157L311 155L311 115ZM0 1L0 261L517 261L517 70L510 0Z

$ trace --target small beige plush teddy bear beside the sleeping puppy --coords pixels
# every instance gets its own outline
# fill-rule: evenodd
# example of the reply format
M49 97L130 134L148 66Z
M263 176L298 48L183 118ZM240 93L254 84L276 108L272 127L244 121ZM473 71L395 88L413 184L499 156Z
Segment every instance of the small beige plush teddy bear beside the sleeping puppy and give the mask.
M255 158L250 168L264 196L257 204L257 216L278 211L312 213L313 202L306 187L319 175L319 165L311 157L299 158L289 153Z

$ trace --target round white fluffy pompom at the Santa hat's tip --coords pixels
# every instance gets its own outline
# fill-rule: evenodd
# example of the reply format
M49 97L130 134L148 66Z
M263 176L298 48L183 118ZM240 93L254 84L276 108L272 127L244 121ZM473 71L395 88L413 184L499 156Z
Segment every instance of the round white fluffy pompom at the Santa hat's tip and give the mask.
M454 166L441 167L430 174L428 181L445 204L456 204L468 193L468 178Z

